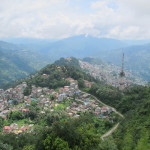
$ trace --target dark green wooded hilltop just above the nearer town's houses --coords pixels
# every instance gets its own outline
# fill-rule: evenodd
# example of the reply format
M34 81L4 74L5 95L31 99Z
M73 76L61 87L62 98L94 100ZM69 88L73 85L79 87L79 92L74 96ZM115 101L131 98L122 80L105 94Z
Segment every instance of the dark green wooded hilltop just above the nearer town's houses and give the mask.
M25 81L28 83L29 88L31 87L30 85L36 85L55 89L69 85L69 82L66 81L66 78L69 77L80 81L83 79L96 81L93 77L73 66L58 66L55 64L45 67L38 74L34 75L34 77L31 77ZM26 92L28 93L27 89Z

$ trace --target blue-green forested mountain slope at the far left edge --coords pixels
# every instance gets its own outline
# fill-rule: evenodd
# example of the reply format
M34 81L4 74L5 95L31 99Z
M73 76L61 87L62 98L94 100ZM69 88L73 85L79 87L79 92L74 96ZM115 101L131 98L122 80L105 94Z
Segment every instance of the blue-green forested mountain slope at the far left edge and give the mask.
M16 51L17 46L0 42L0 88L35 71Z

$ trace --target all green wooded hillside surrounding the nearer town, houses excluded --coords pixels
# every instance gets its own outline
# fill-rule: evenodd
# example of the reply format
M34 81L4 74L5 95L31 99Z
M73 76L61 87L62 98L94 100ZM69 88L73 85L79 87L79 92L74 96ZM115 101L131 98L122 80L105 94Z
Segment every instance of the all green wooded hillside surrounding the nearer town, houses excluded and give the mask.
M79 68L77 59L62 58L55 64L48 65L37 74L23 80L28 85L24 94L30 95L32 85L37 88L48 87L57 91L58 88L69 85L66 80L69 77L78 81L80 90L96 96L124 115L123 120L121 118L117 120L120 125L116 132L102 141L101 131L110 128L111 122L104 124L105 119L98 120L90 112L79 118L70 119L64 118L61 110L56 113L50 112L48 115L47 113L42 114L33 103L29 107L32 110L29 115L34 119L30 118L29 121L37 125L34 132L21 134L22 136L0 134L1 147L9 146L16 150L48 150L51 148L55 150L56 147L62 150L149 150L150 87L135 86L119 91L86 74ZM85 80L90 81L92 86L86 87ZM47 96L51 97L51 95ZM1 122L9 123L3 120ZM12 142L12 139L15 142Z

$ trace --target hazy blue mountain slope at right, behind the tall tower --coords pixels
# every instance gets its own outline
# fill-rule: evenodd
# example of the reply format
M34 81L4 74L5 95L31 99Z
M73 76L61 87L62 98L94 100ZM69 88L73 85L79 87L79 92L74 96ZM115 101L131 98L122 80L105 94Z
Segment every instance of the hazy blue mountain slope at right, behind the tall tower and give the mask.
M120 66L123 52L125 53L125 68L150 81L150 44L107 51L99 56L104 61Z

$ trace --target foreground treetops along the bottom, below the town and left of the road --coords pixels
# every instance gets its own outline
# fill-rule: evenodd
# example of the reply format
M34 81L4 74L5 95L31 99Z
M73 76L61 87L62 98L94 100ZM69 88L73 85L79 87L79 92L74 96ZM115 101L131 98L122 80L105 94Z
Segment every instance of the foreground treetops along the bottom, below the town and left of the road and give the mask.
M111 122L98 119L92 114L77 119L59 116L55 116L57 119L52 124L47 124L47 128L43 128L45 124L39 124L38 121L32 133L0 134L0 147L7 146L14 150L117 150L112 138L109 139L111 145L107 145L107 140L100 139L112 127ZM52 118L52 115L48 114L47 117ZM38 118L44 121L42 117Z

